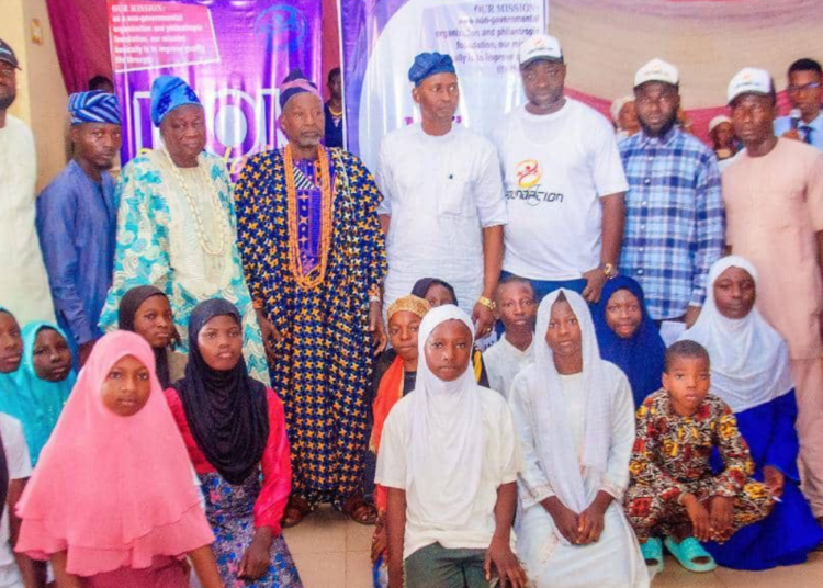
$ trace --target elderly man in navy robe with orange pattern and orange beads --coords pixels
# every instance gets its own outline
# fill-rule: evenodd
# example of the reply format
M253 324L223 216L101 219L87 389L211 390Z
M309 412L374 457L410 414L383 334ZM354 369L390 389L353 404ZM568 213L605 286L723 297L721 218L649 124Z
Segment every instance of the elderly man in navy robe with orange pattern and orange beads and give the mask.
M289 143L251 157L236 193L246 279L292 446L283 525L320 501L373 524L360 487L371 343L385 346L380 192L357 157L320 145L323 101L298 70L284 80L280 109Z

